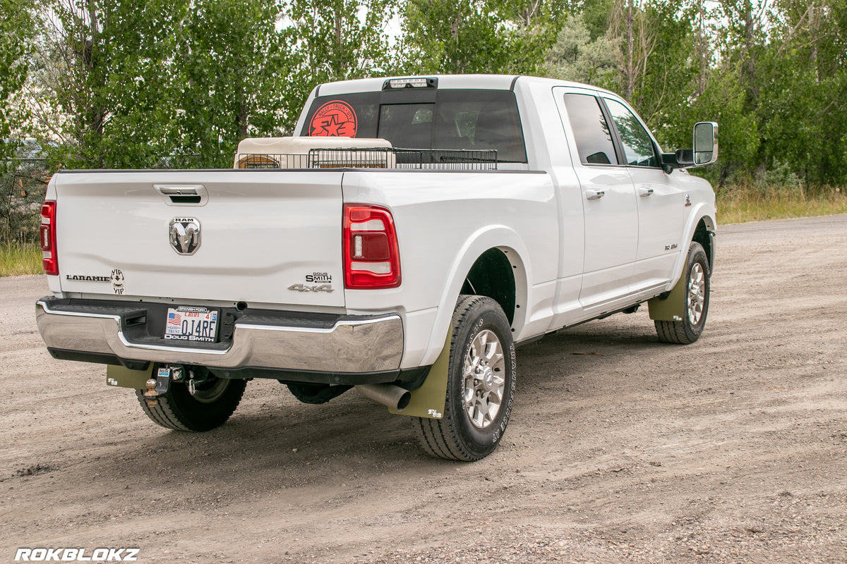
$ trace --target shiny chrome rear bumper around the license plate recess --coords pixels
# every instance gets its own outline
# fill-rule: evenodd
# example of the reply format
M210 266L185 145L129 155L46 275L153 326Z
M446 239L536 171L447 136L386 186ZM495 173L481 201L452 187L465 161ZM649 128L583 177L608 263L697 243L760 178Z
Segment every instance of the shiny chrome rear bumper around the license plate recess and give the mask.
M62 351L222 369L352 374L399 370L403 354L403 324L396 314L339 317L332 326L274 325L267 316L252 322L245 315L235 321L230 342L191 348L130 340L119 308L52 307L51 301L36 302L38 331L47 348Z

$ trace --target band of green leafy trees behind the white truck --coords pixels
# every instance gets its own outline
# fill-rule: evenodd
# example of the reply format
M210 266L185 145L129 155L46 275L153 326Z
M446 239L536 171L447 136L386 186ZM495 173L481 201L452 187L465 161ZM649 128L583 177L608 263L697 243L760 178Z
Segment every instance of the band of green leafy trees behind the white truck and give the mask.
M319 83L515 73L615 90L668 149L716 120L718 183L847 182L847 0L0 1L0 152L53 167L225 167Z

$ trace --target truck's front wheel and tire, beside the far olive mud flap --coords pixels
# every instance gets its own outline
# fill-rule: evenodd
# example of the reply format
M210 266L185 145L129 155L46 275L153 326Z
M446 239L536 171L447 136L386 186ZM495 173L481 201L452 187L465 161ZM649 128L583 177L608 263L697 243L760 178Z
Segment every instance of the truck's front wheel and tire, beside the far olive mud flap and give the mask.
M689 247L685 263L685 292L683 319L679 321L656 320L659 341L688 345L700 338L709 313L711 269L706 251L699 243Z

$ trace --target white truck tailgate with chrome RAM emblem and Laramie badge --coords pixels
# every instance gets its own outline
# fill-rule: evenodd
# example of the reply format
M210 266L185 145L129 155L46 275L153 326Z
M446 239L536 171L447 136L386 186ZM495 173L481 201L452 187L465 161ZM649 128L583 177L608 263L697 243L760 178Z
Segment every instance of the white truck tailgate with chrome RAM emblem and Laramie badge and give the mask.
M342 175L62 172L62 292L343 306Z

